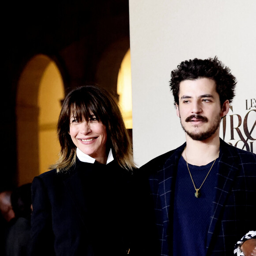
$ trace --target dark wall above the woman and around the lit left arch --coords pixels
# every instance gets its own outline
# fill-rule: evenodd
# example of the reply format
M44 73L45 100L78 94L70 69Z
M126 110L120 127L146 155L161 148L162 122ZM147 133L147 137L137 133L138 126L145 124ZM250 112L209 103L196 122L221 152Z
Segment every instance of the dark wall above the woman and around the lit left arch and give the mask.
M17 185L16 92L28 61L41 53L54 60L66 93L89 83L116 93L129 49L128 0L9 1L2 17L0 191Z

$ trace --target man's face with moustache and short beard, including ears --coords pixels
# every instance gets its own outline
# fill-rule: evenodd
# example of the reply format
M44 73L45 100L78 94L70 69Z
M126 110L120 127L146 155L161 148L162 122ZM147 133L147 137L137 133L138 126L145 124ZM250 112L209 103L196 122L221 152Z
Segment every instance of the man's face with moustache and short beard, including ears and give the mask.
M177 116L186 134L193 140L219 136L221 117L229 110L229 101L220 105L216 83L212 79L184 80L180 83Z

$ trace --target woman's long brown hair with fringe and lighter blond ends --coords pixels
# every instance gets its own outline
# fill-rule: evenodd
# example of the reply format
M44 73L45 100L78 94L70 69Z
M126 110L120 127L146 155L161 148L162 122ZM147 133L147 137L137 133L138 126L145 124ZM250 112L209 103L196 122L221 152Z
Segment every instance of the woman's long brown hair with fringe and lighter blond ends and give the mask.
M134 168L132 144L117 100L105 89L96 86L78 87L65 98L57 125L60 158L50 168L56 168L57 171L68 170L75 163L76 146L69 135L70 117L74 116L79 121L84 118L88 121L90 111L105 125L107 147L112 148L119 165L125 169Z

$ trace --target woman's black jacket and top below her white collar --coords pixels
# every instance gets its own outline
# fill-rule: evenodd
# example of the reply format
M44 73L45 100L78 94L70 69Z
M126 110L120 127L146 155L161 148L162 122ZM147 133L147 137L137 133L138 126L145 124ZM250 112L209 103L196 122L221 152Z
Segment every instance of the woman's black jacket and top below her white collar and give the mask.
M32 256L122 256L130 248L131 174L116 161L80 162L32 183Z

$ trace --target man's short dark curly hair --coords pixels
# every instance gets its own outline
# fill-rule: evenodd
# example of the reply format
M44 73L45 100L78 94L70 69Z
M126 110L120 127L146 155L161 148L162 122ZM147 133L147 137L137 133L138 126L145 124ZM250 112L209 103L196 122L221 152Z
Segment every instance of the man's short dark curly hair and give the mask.
M199 78L210 78L215 80L216 90L219 94L220 103L229 100L231 103L235 96L236 78L231 74L230 68L225 67L217 56L206 60L193 59L182 61L171 72L170 88L174 97L174 104L179 105L180 83L184 80L196 80Z

